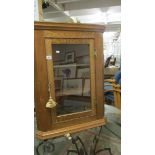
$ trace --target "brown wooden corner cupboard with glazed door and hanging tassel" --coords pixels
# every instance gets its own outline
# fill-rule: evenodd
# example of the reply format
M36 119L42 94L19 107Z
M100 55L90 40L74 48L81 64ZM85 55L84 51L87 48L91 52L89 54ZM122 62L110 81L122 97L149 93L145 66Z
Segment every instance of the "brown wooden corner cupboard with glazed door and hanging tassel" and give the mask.
M102 126L103 25L34 23L37 137Z

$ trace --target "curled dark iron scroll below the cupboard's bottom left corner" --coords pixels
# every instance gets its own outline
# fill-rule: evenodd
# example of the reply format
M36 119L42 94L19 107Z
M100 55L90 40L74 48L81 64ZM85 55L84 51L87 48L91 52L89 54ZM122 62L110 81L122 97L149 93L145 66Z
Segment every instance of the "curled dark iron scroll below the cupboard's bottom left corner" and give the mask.
M39 145L36 147L36 153L37 155L41 155L39 152L40 146L43 146L43 155L46 155L47 153L51 153L55 151L55 146L52 142L49 142L48 140L44 140L39 143Z

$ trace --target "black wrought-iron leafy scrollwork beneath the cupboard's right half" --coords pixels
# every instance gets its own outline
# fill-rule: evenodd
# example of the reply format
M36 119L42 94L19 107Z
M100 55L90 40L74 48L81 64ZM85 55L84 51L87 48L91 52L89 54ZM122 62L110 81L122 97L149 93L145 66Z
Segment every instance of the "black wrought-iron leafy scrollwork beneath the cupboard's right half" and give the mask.
M100 131L99 131L98 135L96 135L93 139L93 143L90 147L89 154L86 151L84 143L82 142L82 140L80 139L79 136L77 136L76 138L70 137L70 139L72 140L72 143L76 147L76 150L68 150L67 155L69 155L70 153L77 153L77 155L97 155L98 153L101 153L101 152L106 151L106 150L109 151L110 155L112 155L110 148L104 148L104 149L96 150L96 146L97 146L98 141L99 141L99 136L100 136L101 130L102 130L102 126L100 127ZM78 147L78 144L77 144L78 141L80 142L80 146L81 146L80 148Z

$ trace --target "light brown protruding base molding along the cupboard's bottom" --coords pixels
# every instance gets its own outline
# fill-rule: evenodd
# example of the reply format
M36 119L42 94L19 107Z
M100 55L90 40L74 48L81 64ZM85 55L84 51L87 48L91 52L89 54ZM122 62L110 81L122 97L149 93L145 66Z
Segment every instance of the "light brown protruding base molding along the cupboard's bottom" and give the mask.
M69 126L69 127L65 127L65 128L61 128L61 129L55 129L55 130L51 130L51 131L47 131L47 132L37 131L36 137L40 140L45 140L45 139L49 139L49 138L63 136L67 133L71 134L71 133L80 132L83 130L95 128L95 127L102 126L105 124L106 124L106 120L105 120L105 118L102 118L102 119L98 119L95 121L82 123L82 124L78 124L78 125L73 125L73 126Z

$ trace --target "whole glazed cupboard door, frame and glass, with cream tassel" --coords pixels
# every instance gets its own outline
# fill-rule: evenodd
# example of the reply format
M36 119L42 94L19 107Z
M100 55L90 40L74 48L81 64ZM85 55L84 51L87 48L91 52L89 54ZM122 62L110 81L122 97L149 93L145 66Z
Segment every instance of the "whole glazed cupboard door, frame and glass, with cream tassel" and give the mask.
M94 39L45 39L53 123L96 115Z

